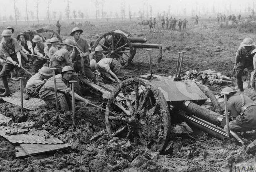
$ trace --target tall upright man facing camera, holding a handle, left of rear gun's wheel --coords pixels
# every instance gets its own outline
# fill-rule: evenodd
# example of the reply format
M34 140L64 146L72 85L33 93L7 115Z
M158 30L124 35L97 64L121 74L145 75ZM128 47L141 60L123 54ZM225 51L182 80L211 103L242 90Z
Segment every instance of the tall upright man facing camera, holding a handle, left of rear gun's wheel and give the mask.
M70 36L74 37L75 45L77 46L73 49L73 52L71 53L70 57L73 61L75 71L82 72L81 56L83 56L85 76L89 79L95 80L95 75L92 69L90 68L90 46L87 40L80 38L81 33L83 33L83 30L78 27L73 28L72 32L70 33Z

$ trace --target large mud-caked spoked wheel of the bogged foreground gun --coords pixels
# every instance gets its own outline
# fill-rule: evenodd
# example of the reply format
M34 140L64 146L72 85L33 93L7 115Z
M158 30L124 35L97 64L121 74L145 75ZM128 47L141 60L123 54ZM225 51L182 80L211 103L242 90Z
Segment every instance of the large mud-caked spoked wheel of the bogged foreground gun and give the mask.
M109 135L123 137L153 151L164 151L170 137L170 113L162 92L139 78L126 79L112 92L105 112Z

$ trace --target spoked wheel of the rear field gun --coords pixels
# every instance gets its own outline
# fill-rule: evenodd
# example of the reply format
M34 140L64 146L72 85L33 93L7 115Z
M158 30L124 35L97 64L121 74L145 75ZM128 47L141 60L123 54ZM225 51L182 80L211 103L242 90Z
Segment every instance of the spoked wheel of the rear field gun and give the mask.
M125 68L134 57L131 42L122 33L108 32L98 38L94 47L102 46L107 58L117 59Z

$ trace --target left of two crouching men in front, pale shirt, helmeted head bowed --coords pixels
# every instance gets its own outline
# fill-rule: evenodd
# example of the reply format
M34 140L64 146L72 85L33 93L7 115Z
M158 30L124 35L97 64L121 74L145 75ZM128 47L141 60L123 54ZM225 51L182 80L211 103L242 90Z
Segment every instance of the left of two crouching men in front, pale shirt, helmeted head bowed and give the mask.
M39 98L39 90L44 85L47 79L49 79L53 74L50 71L49 67L42 67L38 70L38 73L33 75L31 78L29 78L27 84L26 84L26 93L27 97L25 97L25 100L28 100L29 97L36 97ZM46 102L48 104L49 102ZM50 103L49 103L50 105Z

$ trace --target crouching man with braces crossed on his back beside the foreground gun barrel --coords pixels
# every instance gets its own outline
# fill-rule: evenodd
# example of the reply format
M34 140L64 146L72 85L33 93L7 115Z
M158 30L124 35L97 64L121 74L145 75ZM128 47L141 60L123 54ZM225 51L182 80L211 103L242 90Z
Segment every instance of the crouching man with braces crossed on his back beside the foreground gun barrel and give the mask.
M234 120L229 122L230 130L232 131L251 131L256 129L256 104L247 95L235 95L230 87L223 88L221 92L227 92L227 110L231 113ZM223 95L221 95L223 97ZM221 98L220 97L220 98ZM224 130L227 131L227 125ZM232 136L233 132L230 132Z

